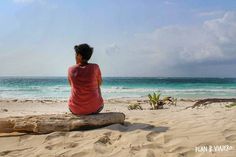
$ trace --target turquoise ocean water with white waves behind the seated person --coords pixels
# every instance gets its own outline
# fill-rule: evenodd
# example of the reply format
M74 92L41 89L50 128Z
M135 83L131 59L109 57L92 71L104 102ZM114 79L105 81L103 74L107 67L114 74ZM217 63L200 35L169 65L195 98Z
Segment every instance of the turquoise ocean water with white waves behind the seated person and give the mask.
M160 92L176 98L235 98L236 78L131 78L105 77L105 99L145 97ZM66 77L0 77L0 99L68 99Z

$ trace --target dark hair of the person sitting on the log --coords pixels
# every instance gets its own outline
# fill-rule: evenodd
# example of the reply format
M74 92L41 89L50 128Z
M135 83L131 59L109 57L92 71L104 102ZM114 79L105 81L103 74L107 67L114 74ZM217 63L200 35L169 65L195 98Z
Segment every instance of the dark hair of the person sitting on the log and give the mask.
M86 61L88 61L93 54L93 48L88 44L75 45L74 49L76 54L80 54L82 56L82 59Z

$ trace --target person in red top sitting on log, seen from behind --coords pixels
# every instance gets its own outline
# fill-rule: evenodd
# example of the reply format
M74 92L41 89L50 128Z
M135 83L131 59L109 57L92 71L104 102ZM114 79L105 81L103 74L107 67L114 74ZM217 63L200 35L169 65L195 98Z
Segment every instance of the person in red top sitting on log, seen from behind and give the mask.
M101 71L97 64L88 63L93 48L88 44L81 44L76 45L74 49L76 65L68 69L68 81L71 86L69 109L76 115L99 113L103 109Z

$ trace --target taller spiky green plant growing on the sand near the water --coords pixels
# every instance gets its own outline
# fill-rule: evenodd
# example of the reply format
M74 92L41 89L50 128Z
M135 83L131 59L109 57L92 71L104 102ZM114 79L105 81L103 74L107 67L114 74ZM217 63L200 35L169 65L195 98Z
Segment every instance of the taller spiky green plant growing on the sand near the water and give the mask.
M172 97L164 97L163 99L160 99L161 93L153 93L148 94L149 98L149 104L151 105L151 109L157 110L157 109L163 109L164 105L175 105L177 103L177 99L174 99Z

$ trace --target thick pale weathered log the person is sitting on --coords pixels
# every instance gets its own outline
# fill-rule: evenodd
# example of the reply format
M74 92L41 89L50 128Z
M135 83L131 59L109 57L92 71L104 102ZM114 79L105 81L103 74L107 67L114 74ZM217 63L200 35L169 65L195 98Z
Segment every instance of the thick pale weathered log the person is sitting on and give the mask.
M46 114L23 117L0 118L0 133L28 132L51 133L99 128L115 123L124 123L120 112L99 113L86 116L73 114Z

